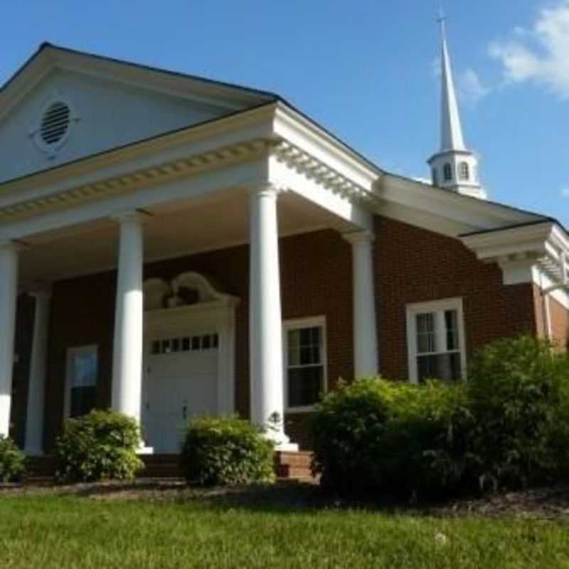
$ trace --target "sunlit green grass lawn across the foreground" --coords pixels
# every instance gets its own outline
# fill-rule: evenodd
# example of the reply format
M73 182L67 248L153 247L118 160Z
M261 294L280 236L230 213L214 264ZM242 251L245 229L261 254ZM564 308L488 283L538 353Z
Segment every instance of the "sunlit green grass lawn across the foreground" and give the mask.
M568 568L569 523L0 494L0 568Z

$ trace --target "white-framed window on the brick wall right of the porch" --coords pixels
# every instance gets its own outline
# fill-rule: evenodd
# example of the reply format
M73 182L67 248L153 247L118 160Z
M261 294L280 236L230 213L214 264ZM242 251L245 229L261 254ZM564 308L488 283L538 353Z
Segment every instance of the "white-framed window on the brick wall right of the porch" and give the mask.
M464 376L462 299L409 305L407 334L410 381L456 381Z

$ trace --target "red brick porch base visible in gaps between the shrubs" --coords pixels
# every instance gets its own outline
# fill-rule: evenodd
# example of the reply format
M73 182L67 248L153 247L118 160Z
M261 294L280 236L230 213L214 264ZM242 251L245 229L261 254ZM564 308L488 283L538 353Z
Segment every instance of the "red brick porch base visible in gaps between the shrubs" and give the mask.
M138 474L144 478L182 478L178 454L141 454L144 469ZM314 479L310 464L312 452L275 452L275 474L279 479L307 480ZM55 475L55 457L30 457L28 476L46 478Z

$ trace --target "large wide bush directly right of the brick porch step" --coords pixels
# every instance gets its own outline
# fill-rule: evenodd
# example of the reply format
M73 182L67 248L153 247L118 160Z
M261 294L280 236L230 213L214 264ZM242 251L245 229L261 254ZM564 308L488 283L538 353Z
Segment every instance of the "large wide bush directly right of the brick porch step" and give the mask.
M462 479L469 425L462 385L343 384L312 418L313 469L343 493L437 494Z

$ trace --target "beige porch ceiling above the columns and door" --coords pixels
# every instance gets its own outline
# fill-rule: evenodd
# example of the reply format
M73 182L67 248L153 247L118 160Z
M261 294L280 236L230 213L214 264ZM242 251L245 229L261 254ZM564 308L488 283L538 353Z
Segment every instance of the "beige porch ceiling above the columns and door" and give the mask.
M146 262L248 242L248 195L218 194L186 206L157 206L144 227ZM297 194L282 194L278 202L280 235L320 228L349 231L350 226ZM110 219L36 235L21 253L21 288L116 266L118 226Z

